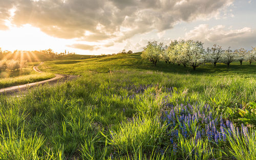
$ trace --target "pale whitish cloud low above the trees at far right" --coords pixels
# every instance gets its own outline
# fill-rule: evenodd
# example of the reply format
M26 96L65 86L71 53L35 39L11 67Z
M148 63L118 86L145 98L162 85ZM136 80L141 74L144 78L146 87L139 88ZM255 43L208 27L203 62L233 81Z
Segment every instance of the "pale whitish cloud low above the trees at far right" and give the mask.
M207 24L202 24L185 33L184 39L201 40L206 46L217 43L225 48L231 46L233 49L250 49L256 45L256 31L249 27L232 30L223 25L209 28Z

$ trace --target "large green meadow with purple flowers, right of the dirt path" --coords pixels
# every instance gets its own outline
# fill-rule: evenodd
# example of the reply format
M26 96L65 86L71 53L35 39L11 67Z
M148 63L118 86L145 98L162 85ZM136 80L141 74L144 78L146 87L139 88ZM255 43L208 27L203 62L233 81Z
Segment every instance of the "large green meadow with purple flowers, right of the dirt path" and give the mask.
M256 65L191 67L140 53L45 62L81 75L0 96L2 159L255 159Z

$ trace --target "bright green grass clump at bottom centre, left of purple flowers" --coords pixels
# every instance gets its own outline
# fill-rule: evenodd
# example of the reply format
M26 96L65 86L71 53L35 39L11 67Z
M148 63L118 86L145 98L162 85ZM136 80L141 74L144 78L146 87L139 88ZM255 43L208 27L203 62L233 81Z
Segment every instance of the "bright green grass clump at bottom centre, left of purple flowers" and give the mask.
M131 122L123 122L118 131L110 132L110 144L121 153L131 153L134 148L143 148L151 152L154 146L161 145L166 125L161 125L158 118L134 117Z

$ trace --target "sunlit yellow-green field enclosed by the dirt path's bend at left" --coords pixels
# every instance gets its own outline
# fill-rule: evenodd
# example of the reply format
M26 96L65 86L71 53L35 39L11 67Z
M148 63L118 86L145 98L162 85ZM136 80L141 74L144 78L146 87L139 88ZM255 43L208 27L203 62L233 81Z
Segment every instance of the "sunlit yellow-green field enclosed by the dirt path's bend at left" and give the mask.
M36 73L33 66L38 62L29 62L28 66L19 71L4 71L1 72L0 88L38 82L55 77L52 73Z

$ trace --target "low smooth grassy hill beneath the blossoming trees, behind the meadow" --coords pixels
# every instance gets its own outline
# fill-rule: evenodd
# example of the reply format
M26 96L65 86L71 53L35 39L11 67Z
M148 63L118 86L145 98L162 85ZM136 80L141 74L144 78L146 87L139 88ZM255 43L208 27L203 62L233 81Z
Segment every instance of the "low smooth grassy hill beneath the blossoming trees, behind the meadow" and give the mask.
M220 63L217 63L216 67L214 67L212 64L206 63L205 65L201 65L198 70L192 71L191 67L166 64L162 61L158 62L157 66L154 66L151 62L143 61L140 53L118 54L101 58L90 58L86 60L49 61L45 62L44 65L39 66L39 68L46 72L74 75L83 74L88 71L107 73L122 69L130 71L162 71L164 73L209 76L240 75L255 77L256 75L255 63L249 65L248 62L244 62L243 65L240 65L239 62L233 62L230 64L229 68Z

